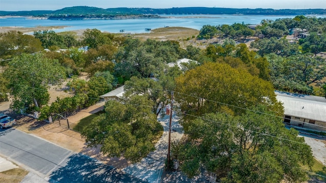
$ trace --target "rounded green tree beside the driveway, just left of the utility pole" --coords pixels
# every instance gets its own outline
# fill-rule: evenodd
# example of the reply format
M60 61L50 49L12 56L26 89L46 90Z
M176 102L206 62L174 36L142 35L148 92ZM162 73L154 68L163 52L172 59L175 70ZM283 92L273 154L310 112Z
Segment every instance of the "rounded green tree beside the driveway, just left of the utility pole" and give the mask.
M105 113L92 120L82 132L88 146L100 146L108 157L124 156L139 162L155 149L153 140L162 126L152 113L152 102L145 96L133 95L124 104L107 101Z

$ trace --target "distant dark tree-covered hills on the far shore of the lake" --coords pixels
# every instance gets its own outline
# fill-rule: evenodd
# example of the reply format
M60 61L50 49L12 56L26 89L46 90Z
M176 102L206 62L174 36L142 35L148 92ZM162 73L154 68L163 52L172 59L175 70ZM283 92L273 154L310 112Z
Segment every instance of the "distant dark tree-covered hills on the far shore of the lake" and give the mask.
M71 15L143 15L143 14L239 14L239 15L324 15L326 9L235 9L235 8L207 8L207 7L184 7L184 8L96 8L87 6L67 7L55 11L0 11L0 16L57 16L61 14Z

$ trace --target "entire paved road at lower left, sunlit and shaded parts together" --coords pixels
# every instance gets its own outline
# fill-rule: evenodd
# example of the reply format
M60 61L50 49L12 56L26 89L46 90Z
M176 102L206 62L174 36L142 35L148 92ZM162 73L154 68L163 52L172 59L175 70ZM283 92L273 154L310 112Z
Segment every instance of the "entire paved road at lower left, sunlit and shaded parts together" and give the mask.
M93 158L13 128L0 132L0 154L49 182L144 182ZM25 182L37 181L31 177L25 177Z

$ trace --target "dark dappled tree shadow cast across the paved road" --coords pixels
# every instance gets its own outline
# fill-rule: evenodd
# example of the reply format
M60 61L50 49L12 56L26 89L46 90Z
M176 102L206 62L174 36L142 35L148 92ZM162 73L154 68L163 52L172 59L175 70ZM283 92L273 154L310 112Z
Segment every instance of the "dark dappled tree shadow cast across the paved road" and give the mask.
M66 166L52 172L49 182L144 182L85 155L68 159Z

